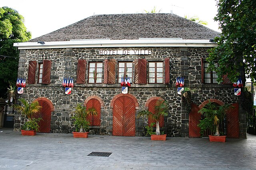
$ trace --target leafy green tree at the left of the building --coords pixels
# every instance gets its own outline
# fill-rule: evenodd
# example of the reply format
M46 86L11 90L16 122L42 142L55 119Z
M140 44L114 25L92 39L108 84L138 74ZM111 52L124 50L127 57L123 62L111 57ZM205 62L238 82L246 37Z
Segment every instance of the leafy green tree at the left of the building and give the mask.
M31 39L24 25L24 18L16 10L0 8L0 97L6 98L9 84L17 80L19 50L13 43Z

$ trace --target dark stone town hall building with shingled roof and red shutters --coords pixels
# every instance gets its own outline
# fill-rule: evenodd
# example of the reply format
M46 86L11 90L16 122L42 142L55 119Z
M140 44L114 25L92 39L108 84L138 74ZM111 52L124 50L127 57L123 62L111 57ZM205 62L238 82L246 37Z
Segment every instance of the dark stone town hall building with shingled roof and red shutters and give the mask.
M136 118L157 100L169 104L160 122L169 137L198 137L198 109L209 100L233 104L227 115L228 137L246 138L246 118L231 82L216 83L216 73L206 72L210 41L219 33L174 14L114 14L91 16L25 43L20 49L18 76L26 78L20 98L37 100L43 109L40 131L71 133L77 103L94 106L91 133L144 136L148 118ZM240 72L244 75L243 70ZM128 93L121 93L122 76L130 78ZM190 113L177 93L176 78L196 89ZM65 94L64 78L73 78ZM199 116L198 116L199 115ZM230 121L232 123L230 123ZM24 117L15 115L14 130Z

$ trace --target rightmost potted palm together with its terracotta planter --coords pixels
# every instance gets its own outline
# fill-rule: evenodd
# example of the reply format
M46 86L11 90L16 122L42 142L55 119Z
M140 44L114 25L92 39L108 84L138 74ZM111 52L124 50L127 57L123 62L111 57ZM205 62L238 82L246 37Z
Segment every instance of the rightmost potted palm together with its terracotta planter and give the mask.
M226 142L226 135L220 135L219 123L224 120L226 113L232 108L233 106L230 104L219 106L214 102L209 102L198 111L198 113L205 117L200 121L198 127L204 129L210 128L212 129L212 133L214 133L214 135L209 135L210 142Z

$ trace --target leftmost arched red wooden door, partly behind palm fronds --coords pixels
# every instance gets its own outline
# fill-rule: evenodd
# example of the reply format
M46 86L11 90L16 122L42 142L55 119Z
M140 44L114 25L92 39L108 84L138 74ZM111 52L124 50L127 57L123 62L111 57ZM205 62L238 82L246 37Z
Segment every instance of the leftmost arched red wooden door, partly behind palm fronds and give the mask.
M39 132L50 133L51 129L51 108L49 104L44 100L38 101L39 105L42 106L39 113L35 114L34 118L41 117L42 120L39 121Z

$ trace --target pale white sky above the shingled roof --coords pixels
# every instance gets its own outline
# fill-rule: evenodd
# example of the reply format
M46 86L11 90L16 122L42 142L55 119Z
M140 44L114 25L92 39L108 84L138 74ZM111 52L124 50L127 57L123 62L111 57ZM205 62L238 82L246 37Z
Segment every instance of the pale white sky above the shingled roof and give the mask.
M8 6L25 19L32 38L45 35L93 15L134 14L151 11L173 13L184 17L197 16L207 21L210 29L219 31L215 0L0 0L0 7Z

